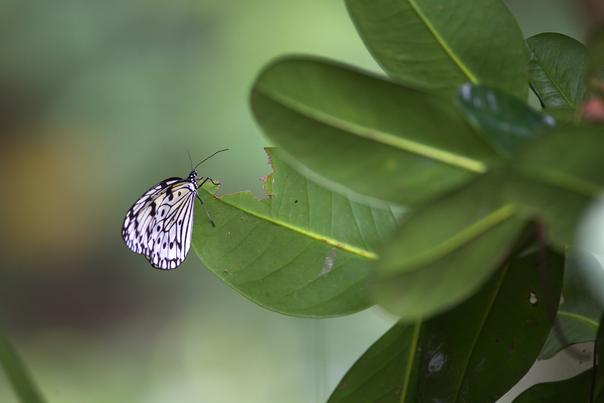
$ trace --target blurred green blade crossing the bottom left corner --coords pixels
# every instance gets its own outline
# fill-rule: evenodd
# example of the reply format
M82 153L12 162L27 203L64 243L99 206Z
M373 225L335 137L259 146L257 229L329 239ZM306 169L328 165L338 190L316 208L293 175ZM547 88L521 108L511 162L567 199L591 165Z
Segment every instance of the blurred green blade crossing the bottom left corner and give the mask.
M19 358L17 351L8 340L4 330L0 327L0 365L4 368L8 380L14 391L24 403L44 402L40 392L25 365Z

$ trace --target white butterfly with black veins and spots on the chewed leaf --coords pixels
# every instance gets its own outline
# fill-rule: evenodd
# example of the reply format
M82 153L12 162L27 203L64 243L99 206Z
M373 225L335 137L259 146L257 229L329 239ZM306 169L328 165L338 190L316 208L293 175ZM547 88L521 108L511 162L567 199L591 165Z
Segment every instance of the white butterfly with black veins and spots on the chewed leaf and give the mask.
M217 151L205 160L226 150L228 149ZM147 190L126 213L121 237L130 250L142 254L155 268L177 268L187 257L191 247L193 206L196 197L204 207L212 226L216 227L197 190L207 181L214 185L219 182L205 178L198 185L201 180L196 171L199 164L193 168L191 161L191 173L187 178L168 178Z

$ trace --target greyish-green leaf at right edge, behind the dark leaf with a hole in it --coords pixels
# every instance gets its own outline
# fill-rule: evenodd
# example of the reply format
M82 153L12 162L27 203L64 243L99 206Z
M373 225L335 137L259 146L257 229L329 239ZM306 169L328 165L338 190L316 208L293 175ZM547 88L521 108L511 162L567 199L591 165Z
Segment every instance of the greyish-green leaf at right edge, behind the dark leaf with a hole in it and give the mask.
M604 306L593 294L590 283L596 287L604 285L604 271L600 262L590 253L568 249L562 286L563 302L539 358L551 358L570 344L596 340Z

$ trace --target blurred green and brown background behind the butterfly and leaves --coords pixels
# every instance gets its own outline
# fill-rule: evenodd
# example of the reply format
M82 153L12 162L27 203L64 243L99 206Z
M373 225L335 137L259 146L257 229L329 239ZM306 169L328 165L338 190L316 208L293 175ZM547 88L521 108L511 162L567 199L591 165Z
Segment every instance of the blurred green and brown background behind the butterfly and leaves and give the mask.
M572 0L507 1L525 37L585 38ZM379 71L341 0L4 0L0 324L51 402L320 402L394 318L265 311L193 251L153 269L126 210L190 163L219 195L270 173L248 92L307 53ZM0 401L17 398L0 370Z

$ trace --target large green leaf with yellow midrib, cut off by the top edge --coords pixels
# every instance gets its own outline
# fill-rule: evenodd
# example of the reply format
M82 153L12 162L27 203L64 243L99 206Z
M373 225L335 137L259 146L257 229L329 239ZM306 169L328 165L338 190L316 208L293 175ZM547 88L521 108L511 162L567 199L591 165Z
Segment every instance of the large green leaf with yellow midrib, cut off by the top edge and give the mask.
M451 98L463 83L527 98L527 52L500 0L346 0L365 46L394 79Z

